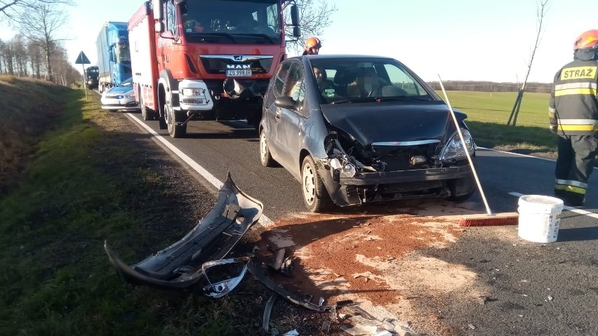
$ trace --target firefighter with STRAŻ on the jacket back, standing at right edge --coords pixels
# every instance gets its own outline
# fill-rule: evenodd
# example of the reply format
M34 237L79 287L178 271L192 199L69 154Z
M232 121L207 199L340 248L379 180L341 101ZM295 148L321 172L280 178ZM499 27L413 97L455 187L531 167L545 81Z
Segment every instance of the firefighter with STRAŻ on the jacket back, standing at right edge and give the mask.
M548 116L557 133L554 196L568 206L583 206L587 180L598 151L598 29L576 39L573 62L554 76Z

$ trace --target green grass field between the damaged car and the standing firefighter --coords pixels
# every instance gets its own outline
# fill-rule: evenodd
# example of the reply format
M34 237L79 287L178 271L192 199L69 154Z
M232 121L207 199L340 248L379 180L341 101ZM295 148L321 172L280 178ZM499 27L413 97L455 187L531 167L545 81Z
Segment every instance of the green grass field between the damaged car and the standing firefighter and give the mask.
M507 126L507 121L517 93L449 91L447 95L455 109L467 114L465 122L477 145L518 153L557 151L556 135L548 129L548 93L524 95L516 127Z

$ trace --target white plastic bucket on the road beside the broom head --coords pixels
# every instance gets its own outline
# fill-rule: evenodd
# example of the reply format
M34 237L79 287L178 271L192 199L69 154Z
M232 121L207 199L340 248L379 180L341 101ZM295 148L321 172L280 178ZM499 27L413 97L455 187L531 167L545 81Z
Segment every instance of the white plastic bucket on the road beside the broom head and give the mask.
M563 208L563 201L555 197L519 197L519 237L536 243L557 241Z

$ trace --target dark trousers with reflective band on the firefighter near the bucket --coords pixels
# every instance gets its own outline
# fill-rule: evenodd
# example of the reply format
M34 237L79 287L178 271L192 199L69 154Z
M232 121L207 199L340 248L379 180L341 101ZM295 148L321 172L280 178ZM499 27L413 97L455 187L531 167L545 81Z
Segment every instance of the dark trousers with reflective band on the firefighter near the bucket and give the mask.
M594 170L598 152L598 135L559 135L559 157L554 175L554 196L571 206L582 206L587 180Z

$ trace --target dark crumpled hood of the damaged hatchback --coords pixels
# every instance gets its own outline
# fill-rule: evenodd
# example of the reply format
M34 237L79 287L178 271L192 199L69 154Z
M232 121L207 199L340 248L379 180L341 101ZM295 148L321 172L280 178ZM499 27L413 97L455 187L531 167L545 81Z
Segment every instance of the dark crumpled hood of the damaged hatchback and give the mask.
M324 118L352 135L361 145L372 142L443 140L454 129L449 107L444 104L359 103L321 105ZM458 121L467 116L455 112Z

